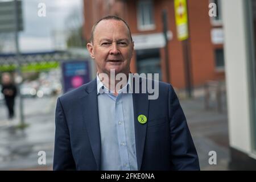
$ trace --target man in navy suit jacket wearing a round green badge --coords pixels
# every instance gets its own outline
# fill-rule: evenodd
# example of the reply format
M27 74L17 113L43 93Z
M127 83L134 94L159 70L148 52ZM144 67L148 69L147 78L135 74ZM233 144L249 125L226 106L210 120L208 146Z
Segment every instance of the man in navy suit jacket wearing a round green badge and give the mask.
M53 169L199 170L172 86L159 82L156 100L148 100L149 93L122 92L134 86L129 75L134 43L127 23L117 16L98 20L87 48L97 78L57 100ZM104 77L113 70L128 78L120 89L118 81Z

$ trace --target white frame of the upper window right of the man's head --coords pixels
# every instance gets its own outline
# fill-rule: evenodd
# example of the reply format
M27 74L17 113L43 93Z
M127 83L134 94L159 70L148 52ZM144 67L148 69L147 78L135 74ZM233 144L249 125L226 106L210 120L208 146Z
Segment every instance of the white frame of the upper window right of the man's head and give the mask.
M152 5L152 24L142 24L141 11L139 9L141 3L151 3ZM139 31L155 30L155 19L154 19L154 1L152 0L139 0L137 2L137 27Z

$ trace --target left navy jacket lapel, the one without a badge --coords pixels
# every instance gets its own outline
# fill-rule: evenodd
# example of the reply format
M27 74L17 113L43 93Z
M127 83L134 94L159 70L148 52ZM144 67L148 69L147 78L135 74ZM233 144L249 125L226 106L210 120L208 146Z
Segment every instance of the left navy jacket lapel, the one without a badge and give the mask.
M86 88L85 95L81 97L81 114L84 118L90 145L100 170L101 158L101 136L100 123L98 119L97 81L93 80Z

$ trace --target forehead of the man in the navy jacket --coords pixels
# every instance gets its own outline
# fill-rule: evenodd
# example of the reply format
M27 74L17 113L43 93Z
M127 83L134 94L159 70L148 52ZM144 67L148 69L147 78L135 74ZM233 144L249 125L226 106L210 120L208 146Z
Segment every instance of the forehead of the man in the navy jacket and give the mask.
M129 39L129 30L121 20L102 20L95 27L94 39L100 40L105 38Z

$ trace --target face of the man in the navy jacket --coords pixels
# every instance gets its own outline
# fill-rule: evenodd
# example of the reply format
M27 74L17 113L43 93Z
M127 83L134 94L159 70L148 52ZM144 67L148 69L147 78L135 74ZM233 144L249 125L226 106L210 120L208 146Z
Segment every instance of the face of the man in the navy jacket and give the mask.
M115 74L130 72L134 44L129 30L120 20L102 20L94 30L93 43L87 44L90 56L96 61L98 73Z

